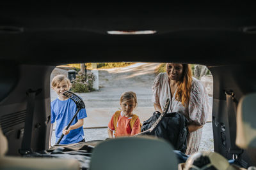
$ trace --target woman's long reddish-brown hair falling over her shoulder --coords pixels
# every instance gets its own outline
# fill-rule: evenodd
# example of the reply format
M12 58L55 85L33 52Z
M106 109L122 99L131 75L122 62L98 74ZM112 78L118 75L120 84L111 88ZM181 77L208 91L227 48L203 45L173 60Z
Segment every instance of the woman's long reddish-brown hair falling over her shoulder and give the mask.
M182 64L182 77L178 81L177 92L175 99L180 101L183 106L189 101L191 85L192 85L192 71L188 64Z

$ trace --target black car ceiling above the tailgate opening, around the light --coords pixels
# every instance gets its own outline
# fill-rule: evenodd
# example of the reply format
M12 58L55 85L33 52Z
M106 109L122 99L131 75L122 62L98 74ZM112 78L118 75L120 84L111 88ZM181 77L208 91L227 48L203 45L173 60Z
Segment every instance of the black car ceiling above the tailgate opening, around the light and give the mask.
M256 34L243 31L255 25L253 5L6 4L0 6L0 15L0 60L20 64L144 61L219 66L256 61ZM148 29L157 33L106 33Z

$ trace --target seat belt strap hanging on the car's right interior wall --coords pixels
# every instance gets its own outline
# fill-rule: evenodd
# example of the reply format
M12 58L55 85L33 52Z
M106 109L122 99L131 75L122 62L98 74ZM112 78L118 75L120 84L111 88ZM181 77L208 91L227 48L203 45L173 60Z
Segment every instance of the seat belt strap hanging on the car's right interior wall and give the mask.
M236 146L236 110L237 110L237 100L235 94L232 91L226 91L227 100L227 113L228 113L228 126L229 126L229 136L230 136L230 148L228 152L232 153L233 159L239 159L239 155L243 153L243 149Z

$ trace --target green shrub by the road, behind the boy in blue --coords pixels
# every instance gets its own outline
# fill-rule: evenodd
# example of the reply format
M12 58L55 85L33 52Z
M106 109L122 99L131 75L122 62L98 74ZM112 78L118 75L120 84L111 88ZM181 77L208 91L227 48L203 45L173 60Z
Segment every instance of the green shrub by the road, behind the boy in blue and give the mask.
M92 73L87 73L86 77L82 73L78 73L75 80L72 80L72 91L83 93L83 92L92 92L93 90L93 81L95 76Z

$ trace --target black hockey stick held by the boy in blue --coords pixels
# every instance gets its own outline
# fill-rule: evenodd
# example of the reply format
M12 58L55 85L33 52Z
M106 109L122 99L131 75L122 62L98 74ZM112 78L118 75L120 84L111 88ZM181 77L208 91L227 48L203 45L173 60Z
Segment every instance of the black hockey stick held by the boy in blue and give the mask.
M73 120L76 118L77 114L79 113L79 111L83 108L85 108L85 105L84 105L84 102L83 102L83 99L79 96L77 96L76 94L74 94L73 92L70 92L70 91L65 91L63 93L64 96L70 98L72 101L74 101L74 103L76 103L76 106L77 106L77 111L74 115L74 117L72 117L72 119L70 120L70 122L68 123L67 127L65 130L67 130L70 125L72 124ZM63 138L64 134L61 134L61 137L60 139L58 140L58 142L56 144L59 144L61 139Z

